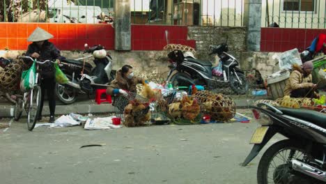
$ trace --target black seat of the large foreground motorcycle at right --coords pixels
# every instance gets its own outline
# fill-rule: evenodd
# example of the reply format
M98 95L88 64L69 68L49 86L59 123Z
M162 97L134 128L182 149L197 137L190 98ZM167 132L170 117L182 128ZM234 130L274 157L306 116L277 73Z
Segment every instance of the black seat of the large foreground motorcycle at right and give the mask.
M309 121L315 125L326 128L326 114L316 112L309 109L290 109L285 107L277 107L283 114Z

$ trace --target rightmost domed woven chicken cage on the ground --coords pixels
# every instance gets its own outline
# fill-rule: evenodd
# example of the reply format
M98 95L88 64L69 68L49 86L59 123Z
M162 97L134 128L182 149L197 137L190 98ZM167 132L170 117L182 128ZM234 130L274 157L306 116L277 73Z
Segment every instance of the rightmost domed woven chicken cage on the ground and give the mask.
M195 98L201 104L203 114L209 114L215 121L228 121L235 116L235 102L226 95L211 91L197 91Z

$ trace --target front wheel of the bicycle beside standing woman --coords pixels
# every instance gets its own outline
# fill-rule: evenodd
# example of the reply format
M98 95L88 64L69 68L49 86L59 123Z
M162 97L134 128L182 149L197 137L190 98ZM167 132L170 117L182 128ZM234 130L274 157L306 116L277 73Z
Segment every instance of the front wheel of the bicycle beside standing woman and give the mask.
M27 128L31 131L35 127L38 114L40 114L41 89L34 86L29 93L27 103L29 104L27 113Z

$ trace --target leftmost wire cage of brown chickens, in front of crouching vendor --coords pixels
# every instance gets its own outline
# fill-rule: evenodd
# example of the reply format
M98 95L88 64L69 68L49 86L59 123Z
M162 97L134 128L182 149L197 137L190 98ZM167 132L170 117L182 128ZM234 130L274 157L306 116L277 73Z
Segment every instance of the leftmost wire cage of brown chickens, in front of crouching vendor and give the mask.
M127 127L147 125L150 121L150 101L137 93L118 95L113 105L116 116L121 118L121 122Z

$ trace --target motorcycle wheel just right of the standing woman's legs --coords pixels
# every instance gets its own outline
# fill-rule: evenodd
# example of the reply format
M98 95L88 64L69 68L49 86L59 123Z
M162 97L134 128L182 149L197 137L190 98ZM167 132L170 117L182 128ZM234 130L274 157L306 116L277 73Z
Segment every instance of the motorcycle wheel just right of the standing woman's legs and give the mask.
M56 84L56 96L65 105L72 104L77 99L76 90L62 84Z

